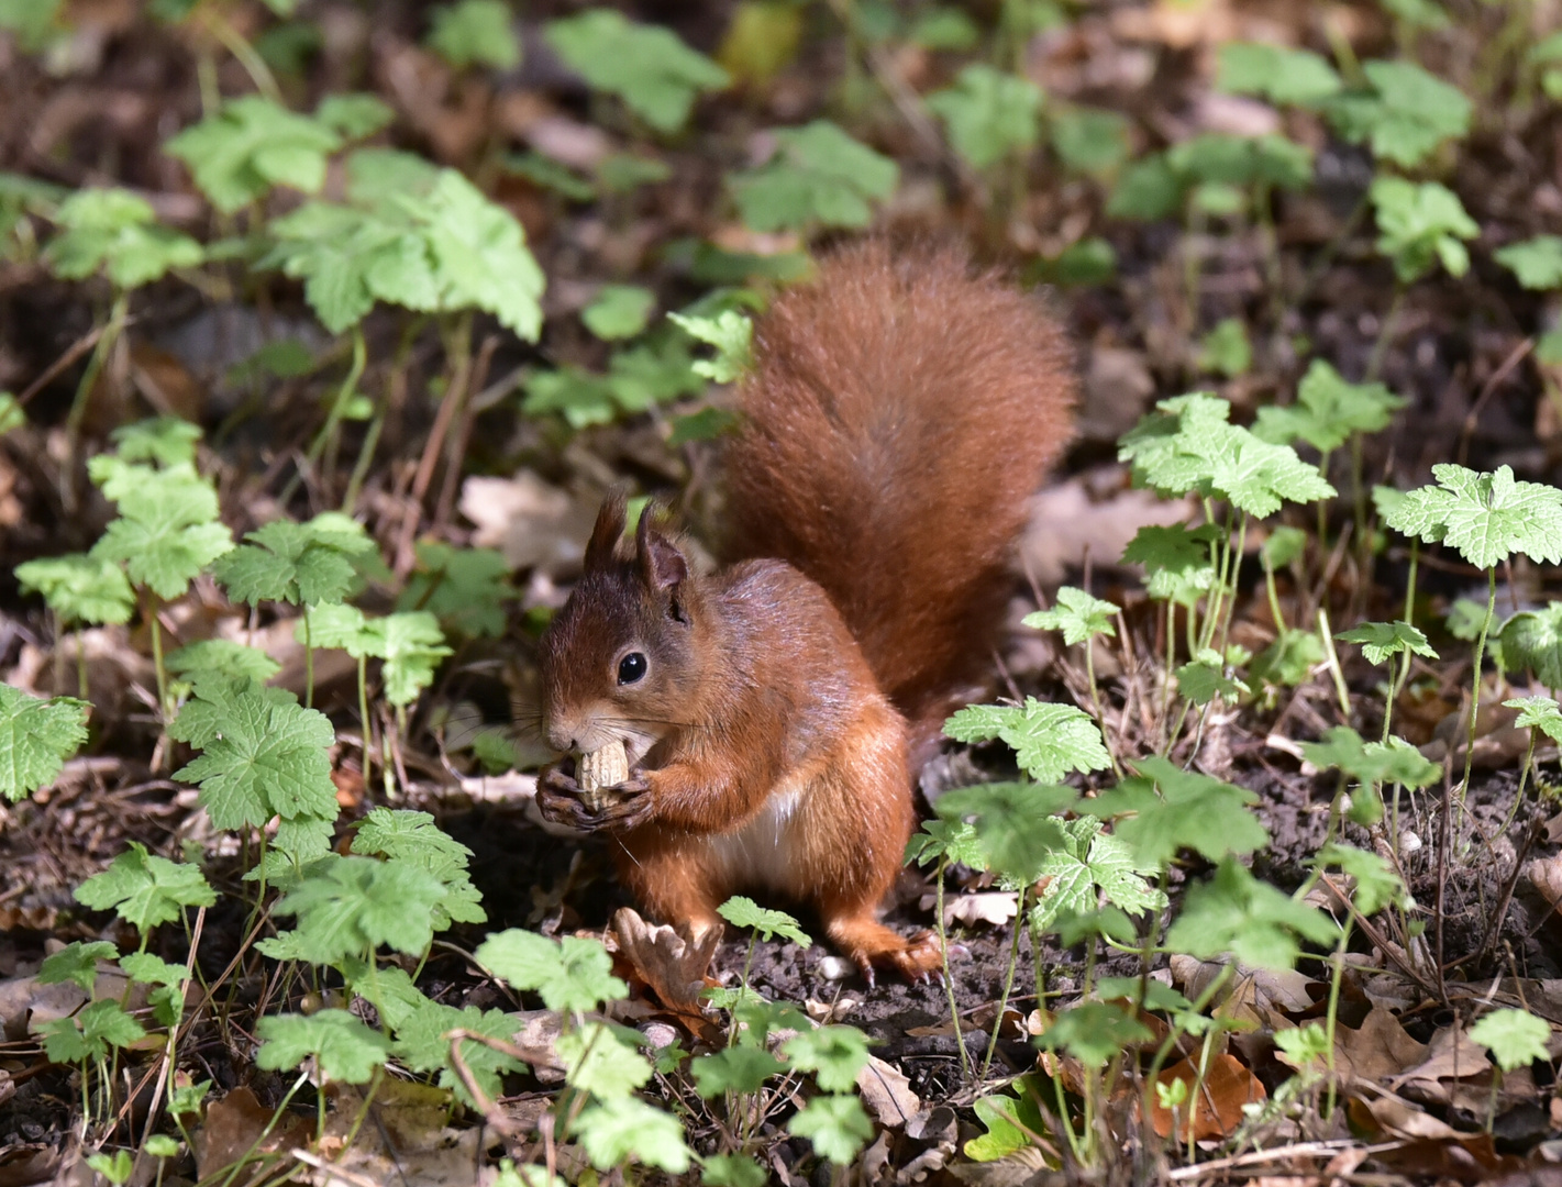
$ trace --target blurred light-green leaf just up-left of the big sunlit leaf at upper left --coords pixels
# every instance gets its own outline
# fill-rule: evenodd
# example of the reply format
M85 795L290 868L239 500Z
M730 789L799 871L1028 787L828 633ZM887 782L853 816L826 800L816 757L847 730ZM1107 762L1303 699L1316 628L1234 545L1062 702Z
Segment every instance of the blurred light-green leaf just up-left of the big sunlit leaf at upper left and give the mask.
M189 167L212 206L236 214L272 186L317 194L326 158L341 147L342 137L322 120L242 95L170 139L164 151Z

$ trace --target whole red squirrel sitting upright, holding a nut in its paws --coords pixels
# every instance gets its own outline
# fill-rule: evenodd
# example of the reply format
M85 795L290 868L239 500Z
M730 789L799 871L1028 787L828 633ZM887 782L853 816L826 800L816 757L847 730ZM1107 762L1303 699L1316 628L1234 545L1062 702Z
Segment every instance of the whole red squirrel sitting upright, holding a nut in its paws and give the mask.
M729 895L812 904L872 979L942 953L879 904L917 826L914 772L990 664L1028 500L1076 384L1040 303L954 250L868 241L758 320L725 451L728 565L695 575L609 498L540 643L550 745L622 740L592 811L558 765L539 804L604 829L620 878L695 934Z

